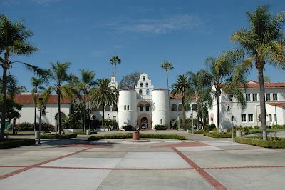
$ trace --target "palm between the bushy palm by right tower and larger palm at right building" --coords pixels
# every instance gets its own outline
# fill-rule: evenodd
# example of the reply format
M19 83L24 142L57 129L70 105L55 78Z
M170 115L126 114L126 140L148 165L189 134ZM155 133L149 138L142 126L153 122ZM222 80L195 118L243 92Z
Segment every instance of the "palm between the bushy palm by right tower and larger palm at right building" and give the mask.
M207 72L203 70L198 71L196 74L192 71L189 71L187 72L187 76L189 76L190 88L186 97L190 98L190 96L195 96L197 104L197 128L199 128L199 107L204 107L203 105L199 104L204 104L206 101L208 102L209 96L207 95L209 95L208 92L209 89L211 89L211 81L207 78Z

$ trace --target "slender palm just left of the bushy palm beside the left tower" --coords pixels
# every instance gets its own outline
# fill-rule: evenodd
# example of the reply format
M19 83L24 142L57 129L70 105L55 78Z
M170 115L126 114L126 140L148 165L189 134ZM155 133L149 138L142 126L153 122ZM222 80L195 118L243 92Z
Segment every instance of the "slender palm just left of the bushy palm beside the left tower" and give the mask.
M81 99L81 92L83 93L83 103L84 103L84 110L83 110L83 129L86 131L86 97L89 95L90 89L93 88L95 85L95 73L94 71L80 69L81 79L76 84L76 89L79 91L80 99Z

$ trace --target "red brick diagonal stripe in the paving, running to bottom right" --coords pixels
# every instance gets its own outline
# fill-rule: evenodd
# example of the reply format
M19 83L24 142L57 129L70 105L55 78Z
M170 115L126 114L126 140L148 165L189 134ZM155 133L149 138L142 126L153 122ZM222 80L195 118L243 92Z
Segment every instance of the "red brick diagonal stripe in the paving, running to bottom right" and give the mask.
M192 166L196 171L198 171L198 173L204 178L206 179L209 184L211 184L215 189L227 189L227 187L225 187L223 184L219 183L219 181L217 181L217 179L214 179L214 177L212 177L210 174L207 173L207 171L204 171L204 169L202 169L200 166L198 166L197 164L195 164L194 161L192 161L191 159L189 159L187 156L185 156L184 154L182 154L181 151L178 151L176 148L172 148L179 156L182 157L182 159L184 159L188 164L190 164L190 166Z

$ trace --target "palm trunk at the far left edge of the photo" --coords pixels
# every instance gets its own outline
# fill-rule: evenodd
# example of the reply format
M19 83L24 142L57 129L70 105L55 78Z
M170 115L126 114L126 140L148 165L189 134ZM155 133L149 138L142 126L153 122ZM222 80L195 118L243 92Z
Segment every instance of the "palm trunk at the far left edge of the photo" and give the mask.
M6 101L7 101L7 68L3 67L3 79L2 79L2 110L1 110L1 140L4 141L4 132L6 124Z

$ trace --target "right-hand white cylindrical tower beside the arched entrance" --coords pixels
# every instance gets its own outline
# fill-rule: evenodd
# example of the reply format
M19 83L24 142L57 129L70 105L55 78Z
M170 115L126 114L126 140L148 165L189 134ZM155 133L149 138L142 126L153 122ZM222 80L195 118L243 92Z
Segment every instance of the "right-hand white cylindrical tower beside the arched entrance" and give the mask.
M152 129L155 129L155 125L170 126L167 90L153 90L152 102Z

